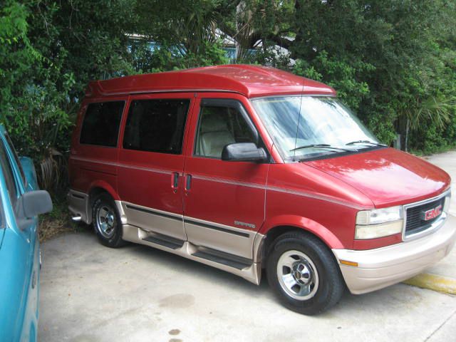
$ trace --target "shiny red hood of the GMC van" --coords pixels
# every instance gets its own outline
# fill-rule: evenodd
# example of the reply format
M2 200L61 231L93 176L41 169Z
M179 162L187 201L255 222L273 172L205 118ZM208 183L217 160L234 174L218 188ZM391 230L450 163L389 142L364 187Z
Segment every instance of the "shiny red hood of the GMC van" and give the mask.
M447 172L393 148L304 163L363 192L375 207L418 202L450 187Z

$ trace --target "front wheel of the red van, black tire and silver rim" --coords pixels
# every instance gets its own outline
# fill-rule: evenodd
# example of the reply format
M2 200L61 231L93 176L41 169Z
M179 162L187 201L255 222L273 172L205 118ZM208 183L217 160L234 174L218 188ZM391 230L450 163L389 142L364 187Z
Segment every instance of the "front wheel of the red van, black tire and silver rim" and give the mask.
M279 301L305 315L320 314L336 305L346 287L328 247L303 232L285 233L276 239L266 275Z

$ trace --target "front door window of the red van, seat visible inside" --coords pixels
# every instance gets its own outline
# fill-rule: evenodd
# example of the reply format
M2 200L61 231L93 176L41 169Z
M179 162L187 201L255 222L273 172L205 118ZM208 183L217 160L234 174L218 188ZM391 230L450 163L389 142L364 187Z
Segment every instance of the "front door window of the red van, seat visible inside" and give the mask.
M199 112L195 155L221 159L226 145L256 142L253 124L247 122L237 106L211 102L202 103Z

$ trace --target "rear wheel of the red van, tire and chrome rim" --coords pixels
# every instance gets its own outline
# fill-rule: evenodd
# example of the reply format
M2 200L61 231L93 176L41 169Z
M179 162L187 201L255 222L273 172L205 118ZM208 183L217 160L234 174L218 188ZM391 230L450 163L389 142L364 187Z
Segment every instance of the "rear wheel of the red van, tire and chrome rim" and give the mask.
M95 197L92 206L92 226L98 241L111 248L125 244L122 239L122 222L113 199L107 194Z

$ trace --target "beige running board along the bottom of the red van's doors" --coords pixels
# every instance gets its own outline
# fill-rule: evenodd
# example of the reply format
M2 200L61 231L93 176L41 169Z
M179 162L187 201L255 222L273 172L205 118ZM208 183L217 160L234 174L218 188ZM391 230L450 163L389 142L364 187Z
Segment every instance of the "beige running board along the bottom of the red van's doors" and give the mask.
M257 237L257 245L260 245L260 241L262 240L262 235L258 234L261 237ZM181 257L185 257L187 259L195 260L201 262L202 264L206 264L209 266L214 266L217 269L222 269L223 271L227 271L232 274L236 274L237 276L241 276L242 278L254 283L259 284L261 281L261 262L252 262L251 265L247 266L244 269L236 269L234 267L226 266L224 264L219 264L218 262L211 261L208 259L195 257L195 253L198 252L198 246L192 244L188 241L185 241L179 249L172 249L161 244L155 244L153 242L148 242L145 240L147 237L147 232L138 228L133 227L130 224L123 225L123 239L129 242L135 242L137 244L145 244L146 246L155 247L157 249L161 249L162 251L170 252L173 254L180 255ZM252 248L252 247L251 247Z

